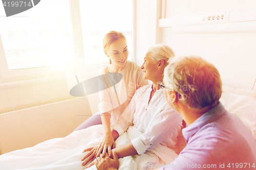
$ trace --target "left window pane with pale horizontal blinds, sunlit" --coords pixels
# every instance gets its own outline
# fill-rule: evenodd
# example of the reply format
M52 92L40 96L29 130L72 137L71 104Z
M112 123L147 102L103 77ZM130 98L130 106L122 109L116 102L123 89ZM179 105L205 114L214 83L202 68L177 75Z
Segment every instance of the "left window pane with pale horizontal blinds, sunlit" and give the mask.
M69 0L44 0L23 13L0 17L0 34L9 70L75 61Z

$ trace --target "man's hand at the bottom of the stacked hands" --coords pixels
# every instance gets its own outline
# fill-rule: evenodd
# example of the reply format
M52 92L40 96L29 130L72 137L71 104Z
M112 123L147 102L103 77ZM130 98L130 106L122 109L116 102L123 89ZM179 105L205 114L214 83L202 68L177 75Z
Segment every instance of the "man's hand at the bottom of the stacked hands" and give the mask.
M100 154L99 157L95 159L95 165L97 166L98 170L105 170L105 169L118 169L119 160L116 155L116 152L113 153L114 159L111 159L107 153L105 153L105 157L102 158Z

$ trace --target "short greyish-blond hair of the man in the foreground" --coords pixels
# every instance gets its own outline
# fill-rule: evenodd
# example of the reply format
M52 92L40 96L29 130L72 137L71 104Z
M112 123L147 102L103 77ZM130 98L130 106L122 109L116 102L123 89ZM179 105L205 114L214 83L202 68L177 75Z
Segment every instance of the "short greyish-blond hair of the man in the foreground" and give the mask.
M191 109L202 109L219 101L222 82L219 71L199 56L170 59L164 70L164 85L181 95Z

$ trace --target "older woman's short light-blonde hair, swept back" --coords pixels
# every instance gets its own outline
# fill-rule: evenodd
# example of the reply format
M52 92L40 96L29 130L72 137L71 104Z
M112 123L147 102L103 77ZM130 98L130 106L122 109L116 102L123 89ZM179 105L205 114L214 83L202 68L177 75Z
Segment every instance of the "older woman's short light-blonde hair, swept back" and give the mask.
M152 46L146 53L146 56L150 57L155 63L160 60L164 60L164 67L168 65L168 60L174 57L174 51L168 45L158 44Z

